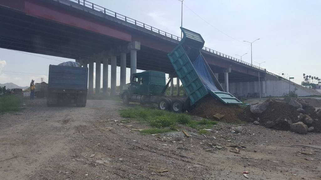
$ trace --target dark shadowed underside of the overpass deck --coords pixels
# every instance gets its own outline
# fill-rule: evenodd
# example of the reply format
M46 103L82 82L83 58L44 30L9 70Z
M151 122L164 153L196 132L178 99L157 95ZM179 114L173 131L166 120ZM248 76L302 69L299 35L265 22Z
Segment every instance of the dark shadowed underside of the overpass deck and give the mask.
M96 61L93 58L95 54L108 51L110 48L117 49L120 45L128 43L88 30L32 17L2 6L0 6L0 18L0 47L6 49ZM219 58L205 58L209 59L208 62L214 73L221 72L224 66L228 66ZM120 66L120 61L117 61L117 66ZM127 67L130 67L129 53L127 54ZM169 74L174 72L167 52L143 45L141 50L137 51L137 69L158 70ZM230 82L247 81L253 78L256 78L256 75L248 72L241 73L232 70L229 74ZM219 80L224 81L223 74L219 75Z

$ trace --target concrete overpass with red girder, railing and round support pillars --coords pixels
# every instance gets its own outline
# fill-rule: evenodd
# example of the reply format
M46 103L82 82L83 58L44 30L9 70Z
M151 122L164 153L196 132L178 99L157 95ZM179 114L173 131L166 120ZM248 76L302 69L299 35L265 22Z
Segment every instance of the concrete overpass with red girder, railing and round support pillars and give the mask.
M108 65L111 94L116 94L117 66L121 86L126 84L126 67L130 74L136 69L159 70L175 77L167 53L180 37L89 1L0 0L0 18L1 48L75 59L89 67L89 94L93 94L94 62L96 95L100 94L101 64L103 95L108 89ZM226 91L258 94L260 76L262 96L269 95L266 78L275 75L207 47L202 53Z

